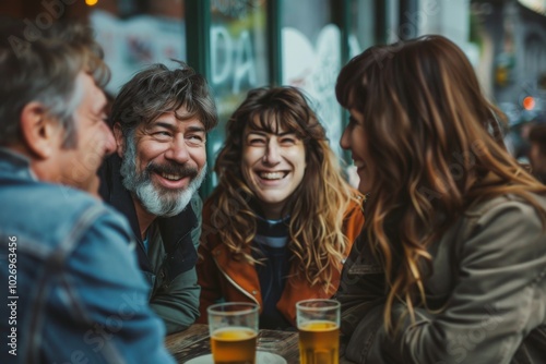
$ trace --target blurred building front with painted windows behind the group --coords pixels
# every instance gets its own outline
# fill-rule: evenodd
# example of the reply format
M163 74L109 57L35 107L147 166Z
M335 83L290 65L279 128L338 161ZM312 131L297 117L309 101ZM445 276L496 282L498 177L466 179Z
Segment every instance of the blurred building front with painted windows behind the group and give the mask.
M37 32L58 20L88 22L112 70L111 96L146 64L175 59L195 68L211 84L221 120L207 142L212 169L226 120L250 88L264 85L302 88L332 147L348 160L339 146L347 114L334 95L341 66L371 45L432 33L477 64L470 8L470 0L21 0L3 2L0 13ZM203 195L216 183L210 175Z

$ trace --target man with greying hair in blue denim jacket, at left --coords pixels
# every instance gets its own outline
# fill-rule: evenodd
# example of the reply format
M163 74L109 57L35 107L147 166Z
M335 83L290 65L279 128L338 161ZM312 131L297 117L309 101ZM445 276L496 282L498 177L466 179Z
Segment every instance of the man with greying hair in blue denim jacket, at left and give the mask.
M0 363L174 363L129 225L96 196L116 148L99 47L76 25L26 35L0 21Z

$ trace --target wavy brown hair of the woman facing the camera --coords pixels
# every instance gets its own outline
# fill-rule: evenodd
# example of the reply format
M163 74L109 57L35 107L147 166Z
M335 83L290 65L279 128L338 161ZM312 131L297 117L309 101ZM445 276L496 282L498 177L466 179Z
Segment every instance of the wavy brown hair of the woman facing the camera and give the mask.
M290 274L302 275L310 284L322 284L329 291L334 287L332 272L341 268L348 244L344 215L352 201L359 203L359 196L343 179L324 128L297 88L252 89L227 122L226 141L214 169L218 186L211 195L215 231L236 256L259 263L247 248L257 230L257 213L251 207L257 197L241 172L246 126L269 133L282 129L304 142L305 175L283 211L283 216L289 214Z

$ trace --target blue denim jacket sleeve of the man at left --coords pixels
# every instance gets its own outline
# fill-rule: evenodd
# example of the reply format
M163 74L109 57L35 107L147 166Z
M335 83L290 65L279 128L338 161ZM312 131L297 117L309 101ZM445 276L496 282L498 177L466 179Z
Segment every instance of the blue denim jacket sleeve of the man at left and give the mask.
M81 236L50 293L54 312L44 327L59 330L46 333L48 361L175 363L149 306L127 221L108 211Z

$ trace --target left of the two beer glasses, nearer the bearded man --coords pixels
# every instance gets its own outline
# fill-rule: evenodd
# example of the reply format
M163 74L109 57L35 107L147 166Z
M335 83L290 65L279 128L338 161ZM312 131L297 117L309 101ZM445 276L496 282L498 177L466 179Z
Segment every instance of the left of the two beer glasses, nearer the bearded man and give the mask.
M209 306L214 364L254 364L258 305L227 302Z

